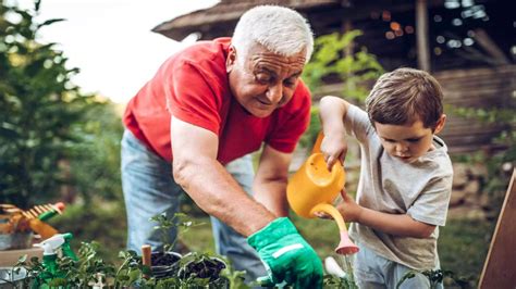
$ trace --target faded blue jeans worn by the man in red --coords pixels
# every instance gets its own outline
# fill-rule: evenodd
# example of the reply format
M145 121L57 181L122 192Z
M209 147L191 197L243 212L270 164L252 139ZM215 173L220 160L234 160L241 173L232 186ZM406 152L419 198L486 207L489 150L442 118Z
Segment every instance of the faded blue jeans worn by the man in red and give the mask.
M228 172L251 193L254 169L250 155L226 165ZM150 151L130 130L122 138L122 189L127 212L127 249L139 252L143 244L152 250L162 249L162 236L156 231L150 217L167 213L173 216L180 209L180 196L184 193L172 177L172 165ZM246 281L266 276L266 269L256 251L244 236L211 216L211 226L218 254L225 255L237 271L246 271ZM176 230L168 237L175 239Z

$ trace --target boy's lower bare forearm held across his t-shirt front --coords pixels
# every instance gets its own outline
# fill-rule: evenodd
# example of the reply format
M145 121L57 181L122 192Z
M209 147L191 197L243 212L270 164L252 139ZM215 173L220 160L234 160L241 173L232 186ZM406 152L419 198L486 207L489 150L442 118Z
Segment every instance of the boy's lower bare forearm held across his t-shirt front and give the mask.
M413 238L428 238L435 229L434 225L416 221L408 214L378 212L360 206L345 192L342 194L343 202L337 209L346 222L355 222L386 234Z

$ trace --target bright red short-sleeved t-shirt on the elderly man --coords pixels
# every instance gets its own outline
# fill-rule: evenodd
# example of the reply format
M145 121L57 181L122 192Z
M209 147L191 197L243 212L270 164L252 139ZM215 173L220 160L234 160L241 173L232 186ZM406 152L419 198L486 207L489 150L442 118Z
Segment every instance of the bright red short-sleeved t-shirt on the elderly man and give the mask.
M199 41L175 53L127 104L125 126L164 160L172 161L171 115L219 136L217 159L223 164L257 151L263 141L292 152L307 128L310 92L303 81L291 101L268 117L253 116L241 106L225 71L230 42Z

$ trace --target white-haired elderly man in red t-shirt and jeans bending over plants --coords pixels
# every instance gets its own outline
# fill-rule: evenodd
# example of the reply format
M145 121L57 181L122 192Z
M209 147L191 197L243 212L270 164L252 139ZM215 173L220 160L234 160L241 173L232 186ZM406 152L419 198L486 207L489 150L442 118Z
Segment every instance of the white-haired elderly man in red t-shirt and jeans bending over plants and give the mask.
M130 249L161 246L149 217L173 215L184 190L211 215L217 251L236 269L269 285L321 287L320 260L285 217L287 167L309 123L299 76L312 49L304 17L263 5L232 38L199 41L161 65L124 115ZM248 153L262 144L254 176Z

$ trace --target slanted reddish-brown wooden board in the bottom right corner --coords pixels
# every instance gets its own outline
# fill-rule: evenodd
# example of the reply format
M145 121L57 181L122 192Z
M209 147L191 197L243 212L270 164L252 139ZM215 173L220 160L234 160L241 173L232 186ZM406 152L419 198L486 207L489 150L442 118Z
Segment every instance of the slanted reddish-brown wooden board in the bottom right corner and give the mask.
M479 288L516 288L516 169L494 229Z

